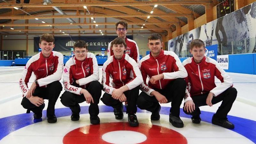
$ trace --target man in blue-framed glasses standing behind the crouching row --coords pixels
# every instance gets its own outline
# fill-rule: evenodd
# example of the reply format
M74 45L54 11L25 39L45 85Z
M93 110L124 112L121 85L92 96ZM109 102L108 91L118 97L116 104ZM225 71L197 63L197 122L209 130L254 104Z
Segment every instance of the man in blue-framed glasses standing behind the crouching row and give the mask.
M140 55L139 55L138 45L135 41L128 39L126 37L127 29L128 29L128 24L126 21L121 20L116 23L116 34L118 35L118 37L121 37L122 39L124 39L127 45L125 53L128 54L131 58L133 58L136 61L136 63L139 63ZM112 51L111 43L112 42L108 44L108 58L114 55Z

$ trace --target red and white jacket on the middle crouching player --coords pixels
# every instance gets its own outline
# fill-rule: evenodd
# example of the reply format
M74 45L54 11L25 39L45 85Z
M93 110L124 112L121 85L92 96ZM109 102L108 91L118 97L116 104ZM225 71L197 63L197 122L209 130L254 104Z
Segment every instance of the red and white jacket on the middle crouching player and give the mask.
M112 77L112 87L110 86ZM138 64L128 54L123 54L122 59L117 60L111 56L103 64L102 85L103 91L112 95L115 88L127 85L129 90L139 86L143 82Z

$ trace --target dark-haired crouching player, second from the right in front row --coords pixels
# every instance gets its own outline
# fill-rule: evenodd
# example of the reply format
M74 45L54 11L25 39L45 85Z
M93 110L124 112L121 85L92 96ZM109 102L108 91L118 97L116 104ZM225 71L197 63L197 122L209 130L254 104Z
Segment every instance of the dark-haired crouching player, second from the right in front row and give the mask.
M151 120L159 120L160 103L172 102L169 121L175 127L183 127L180 119L180 105L185 95L187 72L178 56L172 51L164 51L160 34L151 34L148 38L150 54L140 61L143 81L137 106L152 112ZM148 84L146 79L149 76Z

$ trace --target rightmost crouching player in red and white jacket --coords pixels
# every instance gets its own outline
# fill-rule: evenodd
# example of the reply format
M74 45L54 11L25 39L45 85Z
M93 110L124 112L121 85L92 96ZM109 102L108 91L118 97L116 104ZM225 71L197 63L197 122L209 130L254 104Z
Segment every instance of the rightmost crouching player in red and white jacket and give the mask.
M183 61L188 72L186 78L187 90L183 111L192 115L193 123L199 124L200 106L221 102L221 106L213 115L212 123L225 128L233 129L234 125L227 119L233 102L237 97L237 90L228 74L214 59L205 56L205 44L199 39L190 43L190 53L193 57ZM221 84L215 85L214 76L221 80Z

